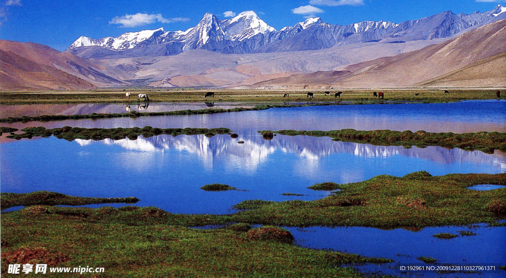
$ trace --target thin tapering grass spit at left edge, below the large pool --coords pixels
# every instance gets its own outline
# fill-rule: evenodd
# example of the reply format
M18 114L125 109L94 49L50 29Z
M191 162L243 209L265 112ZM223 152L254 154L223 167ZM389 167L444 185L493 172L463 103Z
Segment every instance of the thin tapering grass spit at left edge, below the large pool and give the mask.
M32 193L2 193L0 194L0 206L2 210L16 206L34 206L34 205L68 205L80 206L90 204L113 204L125 203L134 204L139 199L135 197L128 198L91 198L74 197L56 192L36 191Z

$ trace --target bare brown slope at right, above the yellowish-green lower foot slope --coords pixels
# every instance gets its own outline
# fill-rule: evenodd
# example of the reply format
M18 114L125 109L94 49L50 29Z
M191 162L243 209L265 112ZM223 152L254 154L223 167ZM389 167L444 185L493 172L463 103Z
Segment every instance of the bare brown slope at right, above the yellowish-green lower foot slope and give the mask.
M345 70L354 72L339 83L351 87L411 86L497 55L504 51L504 41L506 20L500 20L449 41L389 59L378 59L377 63L365 64L363 68L347 67Z

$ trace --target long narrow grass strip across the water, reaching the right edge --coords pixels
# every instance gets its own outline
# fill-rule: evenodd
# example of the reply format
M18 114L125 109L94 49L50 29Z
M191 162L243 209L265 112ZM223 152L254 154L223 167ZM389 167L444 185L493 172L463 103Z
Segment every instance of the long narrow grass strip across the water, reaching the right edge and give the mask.
M261 130L262 134L275 132L281 135L307 135L307 136L328 136L335 141L356 142L378 146L412 146L424 148L427 146L440 146L443 148L459 148L466 151L478 150L484 153L493 153L494 150L506 152L506 133L503 132L416 132L372 130L362 131L355 129L340 129L330 131L297 131L297 130Z

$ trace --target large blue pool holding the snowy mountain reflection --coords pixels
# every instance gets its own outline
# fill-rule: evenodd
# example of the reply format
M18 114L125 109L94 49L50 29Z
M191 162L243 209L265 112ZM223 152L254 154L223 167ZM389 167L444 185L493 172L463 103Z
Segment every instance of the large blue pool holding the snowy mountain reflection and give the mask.
M500 152L404 149L310 136L278 135L267 141L254 131L239 132L236 139L159 135L135 141L67 142L50 137L1 146L2 192L135 196L141 199L140 206L174 213L229 213L232 205L249 199L314 200L325 194L307 189L314 183L356 182L379 174L506 171L506 155ZM226 183L246 191L200 190L209 183Z

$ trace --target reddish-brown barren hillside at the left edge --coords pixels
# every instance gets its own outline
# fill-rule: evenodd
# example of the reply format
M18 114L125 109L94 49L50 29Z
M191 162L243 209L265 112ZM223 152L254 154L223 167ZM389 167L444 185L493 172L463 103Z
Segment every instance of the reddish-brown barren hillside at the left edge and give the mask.
M33 42L0 40L1 89L90 89L120 85L122 81L106 73L127 77L109 69Z

